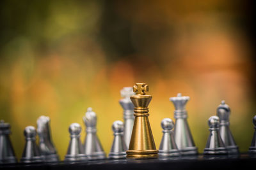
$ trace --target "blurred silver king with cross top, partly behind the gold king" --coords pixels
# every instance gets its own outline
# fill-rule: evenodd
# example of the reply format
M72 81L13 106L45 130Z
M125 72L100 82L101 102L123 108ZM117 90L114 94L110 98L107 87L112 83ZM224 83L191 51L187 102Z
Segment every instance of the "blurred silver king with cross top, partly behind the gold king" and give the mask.
M119 103L121 104L124 110L124 141L127 148L129 147L132 127L134 124L134 105L130 99L132 95L135 95L133 92L133 87L124 87L120 90L121 96L124 97L120 99Z

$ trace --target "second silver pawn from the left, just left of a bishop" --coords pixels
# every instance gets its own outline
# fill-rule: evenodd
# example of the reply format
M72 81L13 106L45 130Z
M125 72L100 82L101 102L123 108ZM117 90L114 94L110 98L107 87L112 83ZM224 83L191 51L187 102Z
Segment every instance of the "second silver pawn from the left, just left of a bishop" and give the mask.
M67 154L65 155L65 162L80 162L86 161L87 157L83 152L83 146L80 141L81 126L73 123L69 126L70 141L68 145Z

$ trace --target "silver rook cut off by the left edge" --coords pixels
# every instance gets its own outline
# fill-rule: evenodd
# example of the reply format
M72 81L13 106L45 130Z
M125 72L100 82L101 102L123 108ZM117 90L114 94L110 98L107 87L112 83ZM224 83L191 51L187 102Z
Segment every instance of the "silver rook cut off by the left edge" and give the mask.
M0 120L0 164L17 163L12 142L10 140L11 126Z

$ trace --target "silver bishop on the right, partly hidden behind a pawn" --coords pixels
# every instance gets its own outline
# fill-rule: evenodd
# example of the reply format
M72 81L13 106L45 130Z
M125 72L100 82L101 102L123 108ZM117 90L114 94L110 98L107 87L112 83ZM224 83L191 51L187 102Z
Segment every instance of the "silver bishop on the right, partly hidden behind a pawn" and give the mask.
M236 142L229 129L230 108L225 101L221 101L221 104L218 106L217 116L220 118L220 136L228 150L228 153L239 154L238 146L236 145Z

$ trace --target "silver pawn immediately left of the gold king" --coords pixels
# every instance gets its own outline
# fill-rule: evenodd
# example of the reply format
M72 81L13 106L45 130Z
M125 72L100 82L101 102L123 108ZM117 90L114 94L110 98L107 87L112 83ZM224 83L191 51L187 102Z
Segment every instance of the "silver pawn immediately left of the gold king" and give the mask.
M127 147L124 142L124 124L120 120L116 120L112 125L114 132L114 140L111 150L108 154L109 159L125 159Z

